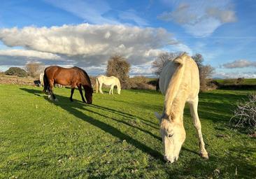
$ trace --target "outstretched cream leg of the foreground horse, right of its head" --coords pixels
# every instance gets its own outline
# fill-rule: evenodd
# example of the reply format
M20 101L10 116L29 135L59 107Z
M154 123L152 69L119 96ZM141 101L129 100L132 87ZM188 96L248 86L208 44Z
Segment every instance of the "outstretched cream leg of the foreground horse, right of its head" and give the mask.
M206 148L204 148L204 138L203 138L203 135L201 134L201 122L198 117L197 107L198 107L198 96L193 101L190 101L190 113L193 117L194 127L197 129L197 135L199 138L199 148L200 148L199 154L201 157L208 159L208 152L206 151Z

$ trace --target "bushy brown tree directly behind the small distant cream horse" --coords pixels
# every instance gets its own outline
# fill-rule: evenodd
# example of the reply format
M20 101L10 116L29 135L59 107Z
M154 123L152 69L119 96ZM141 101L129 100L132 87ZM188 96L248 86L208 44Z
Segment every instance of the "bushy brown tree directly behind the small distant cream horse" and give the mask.
M122 55L113 55L108 60L106 76L115 76L121 83L129 79L130 64Z

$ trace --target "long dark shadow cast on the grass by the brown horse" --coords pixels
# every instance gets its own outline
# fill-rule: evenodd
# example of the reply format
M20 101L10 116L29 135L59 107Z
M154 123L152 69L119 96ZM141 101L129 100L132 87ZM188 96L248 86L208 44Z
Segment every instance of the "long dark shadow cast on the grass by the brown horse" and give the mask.
M48 96L46 96L44 94L42 95L42 92L40 90L33 90L33 89L27 89L27 88L20 88L20 90L29 92L30 94L34 94L36 96L43 96L46 101L48 101L49 103L52 103L52 101L48 100ZM87 110L90 113L94 113L94 114L101 115L104 117L108 117L108 116L103 115L101 113L96 113L95 111L92 111L92 110L89 110L87 108L87 104L82 103L80 101L74 100L73 102L71 102L71 101L69 101L69 97L59 96L57 94L55 94L55 96L57 97L57 99L59 99L59 102L54 102L55 106L59 106L62 109L66 110L68 113L71 113L73 116L78 117L78 119L83 120L89 124L92 124L95 127L98 127L99 129L107 132L108 134L111 134L112 136L119 138L120 141L124 141L124 140L127 141L127 143L134 145L135 148L137 148L138 150L141 150L142 152L147 153L148 155L154 157L156 160L164 162L163 155L160 152L158 152L157 150L153 150L152 148L141 143L140 141L137 141L136 139L132 138L131 136L124 134L122 131L111 126L110 124L106 124L105 122L102 122L101 120L97 120L97 119L91 117L90 115L86 115L85 113L82 113L80 110ZM93 107L93 106L90 106L90 107ZM78 109L80 109L80 110L78 110ZM121 120L117 120L114 117L108 117L108 118L111 120L115 120L116 122L122 122L123 124L127 124L131 127L134 127L131 124L121 121ZM160 139L158 136L155 136L150 131L140 129L138 127L135 127L135 128L139 129L147 134L150 134L151 136L153 136L155 138Z

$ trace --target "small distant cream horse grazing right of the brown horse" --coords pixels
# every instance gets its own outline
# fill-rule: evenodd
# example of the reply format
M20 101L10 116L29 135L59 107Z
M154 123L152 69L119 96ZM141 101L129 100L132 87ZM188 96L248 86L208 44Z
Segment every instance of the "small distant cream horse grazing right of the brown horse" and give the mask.
M108 85L108 86L111 85L111 90L109 91L109 94L113 94L113 89L114 89L115 85L118 87L118 94L120 94L120 92L121 92L120 81L115 76L111 76L111 77L97 76L97 79L96 79L96 93L98 93L98 89L99 89L99 92L101 94L103 94L103 92L101 90L102 84Z

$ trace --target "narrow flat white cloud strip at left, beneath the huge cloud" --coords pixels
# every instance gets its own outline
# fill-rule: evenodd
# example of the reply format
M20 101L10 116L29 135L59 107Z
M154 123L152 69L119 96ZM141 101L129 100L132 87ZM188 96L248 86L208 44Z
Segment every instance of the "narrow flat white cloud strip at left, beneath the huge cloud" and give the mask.
M22 49L6 49L0 50L0 56L10 56L10 57L27 57L28 59L61 59L59 55L48 53L48 52L38 52L36 50L22 50Z

